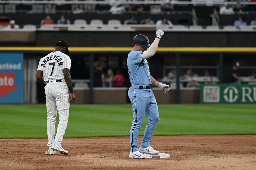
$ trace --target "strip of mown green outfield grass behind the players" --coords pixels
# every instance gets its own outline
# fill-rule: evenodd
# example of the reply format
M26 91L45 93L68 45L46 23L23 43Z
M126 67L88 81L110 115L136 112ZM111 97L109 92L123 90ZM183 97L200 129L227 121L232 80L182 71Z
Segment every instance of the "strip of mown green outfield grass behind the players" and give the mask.
M256 134L256 105L159 105L154 135ZM0 138L47 138L46 106L0 105ZM140 135L147 123L145 118ZM74 105L64 137L129 136L132 106ZM57 126L56 126L57 128Z

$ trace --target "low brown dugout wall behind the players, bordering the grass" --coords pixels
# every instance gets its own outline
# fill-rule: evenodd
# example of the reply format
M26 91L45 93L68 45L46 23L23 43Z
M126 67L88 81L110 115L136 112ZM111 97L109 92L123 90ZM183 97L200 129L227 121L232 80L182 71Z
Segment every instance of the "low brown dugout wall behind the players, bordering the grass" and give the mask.
M176 91L171 90L165 93L159 88L153 88L154 96L158 104L175 104ZM128 88L94 88L94 104L127 104L130 103L128 99ZM76 95L75 104L89 104L90 91L74 90ZM180 90L180 103L199 103L200 102L199 89L181 89Z

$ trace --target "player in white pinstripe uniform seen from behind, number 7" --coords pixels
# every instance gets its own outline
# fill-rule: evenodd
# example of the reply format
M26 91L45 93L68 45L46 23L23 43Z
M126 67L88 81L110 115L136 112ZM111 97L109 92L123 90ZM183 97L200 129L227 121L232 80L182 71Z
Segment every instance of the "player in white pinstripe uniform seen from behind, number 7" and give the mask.
M70 75L71 60L68 57L68 43L58 40L54 52L41 58L36 78L45 85L47 107L47 135L49 150L47 155L54 155L55 150L67 155L68 151L62 148L61 143L68 124L69 102L74 102L75 95ZM70 100L68 95L70 91ZM59 111L59 124L55 135L55 122Z

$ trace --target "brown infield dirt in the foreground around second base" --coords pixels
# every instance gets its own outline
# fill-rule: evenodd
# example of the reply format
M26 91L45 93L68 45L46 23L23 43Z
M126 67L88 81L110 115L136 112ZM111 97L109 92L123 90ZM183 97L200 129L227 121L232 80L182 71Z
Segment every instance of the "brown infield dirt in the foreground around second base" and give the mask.
M47 142L0 139L1 169L256 169L256 135L154 136L171 158L145 159L128 157L129 137L65 138L68 155L45 155Z

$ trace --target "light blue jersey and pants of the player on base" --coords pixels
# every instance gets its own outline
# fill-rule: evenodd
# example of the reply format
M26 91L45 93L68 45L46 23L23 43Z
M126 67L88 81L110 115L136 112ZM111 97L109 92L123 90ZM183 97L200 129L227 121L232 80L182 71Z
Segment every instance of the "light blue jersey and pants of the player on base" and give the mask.
M150 140L160 119L156 98L151 90L151 86L149 86L149 89L146 89L146 86L151 85L151 77L148 62L146 59L142 59L142 54L143 51L132 50L127 58L129 78L132 84L128 90L133 112L133 121L130 130L131 152L139 151L137 146L138 136L144 121L145 112L148 116L148 124L140 145L143 148L150 146ZM143 86L143 88L140 86Z

